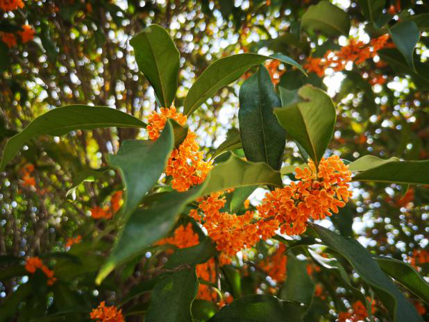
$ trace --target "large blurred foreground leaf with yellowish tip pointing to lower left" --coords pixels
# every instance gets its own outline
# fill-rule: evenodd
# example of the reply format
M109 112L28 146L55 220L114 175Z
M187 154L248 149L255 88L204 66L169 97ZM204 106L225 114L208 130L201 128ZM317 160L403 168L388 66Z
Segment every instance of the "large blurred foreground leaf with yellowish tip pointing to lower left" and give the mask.
M148 246L165 237L173 228L178 214L185 209L185 205L201 195L206 182L187 192L162 194L150 208L133 212L119 232L108 260L101 267L96 284L100 284L118 264L141 254Z

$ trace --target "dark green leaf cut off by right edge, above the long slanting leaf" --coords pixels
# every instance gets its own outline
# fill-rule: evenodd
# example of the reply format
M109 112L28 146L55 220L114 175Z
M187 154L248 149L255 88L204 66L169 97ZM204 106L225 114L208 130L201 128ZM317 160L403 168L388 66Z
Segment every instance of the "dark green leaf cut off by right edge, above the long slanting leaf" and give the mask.
M413 266L387 257L376 257L375 260L382 271L429 304L429 284Z

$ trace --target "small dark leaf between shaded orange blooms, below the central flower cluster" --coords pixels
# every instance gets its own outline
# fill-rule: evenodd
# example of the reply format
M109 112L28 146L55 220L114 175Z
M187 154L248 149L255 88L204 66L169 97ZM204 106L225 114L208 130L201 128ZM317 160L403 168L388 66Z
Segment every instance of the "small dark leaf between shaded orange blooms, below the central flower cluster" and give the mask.
M169 257L166 269L174 269L180 265L195 266L210 260L216 254L216 248L210 239L206 238L198 245L180 248Z

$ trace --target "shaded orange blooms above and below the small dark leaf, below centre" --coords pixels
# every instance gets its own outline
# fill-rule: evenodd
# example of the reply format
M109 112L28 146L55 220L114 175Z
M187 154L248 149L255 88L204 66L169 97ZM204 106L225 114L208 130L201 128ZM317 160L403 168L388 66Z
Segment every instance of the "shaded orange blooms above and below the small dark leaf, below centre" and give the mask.
M187 248L199 244L199 237L196 232L192 229L192 223L188 223L187 226L179 226L174 230L174 235L162 239L157 244L171 244L176 245L178 248ZM216 282L216 269L214 258L210 258L208 262L196 265L196 276L207 282ZM200 284L198 289L197 298L201 300L212 300L217 301L216 291L212 291L210 286Z

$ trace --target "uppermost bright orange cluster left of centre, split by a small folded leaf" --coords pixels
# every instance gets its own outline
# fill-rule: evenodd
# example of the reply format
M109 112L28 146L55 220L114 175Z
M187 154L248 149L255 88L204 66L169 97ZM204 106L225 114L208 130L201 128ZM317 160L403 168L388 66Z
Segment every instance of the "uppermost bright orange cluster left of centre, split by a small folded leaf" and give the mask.
M177 112L174 106L161 108L160 113L154 111L149 115L149 125L146 127L150 139L158 139L167 119L174 119L181 126L186 123L186 116ZM203 183L211 168L212 162L203 160L203 152L199 151L195 133L189 131L178 149L171 152L165 174L173 178L171 186L174 189L184 192L193 185Z

